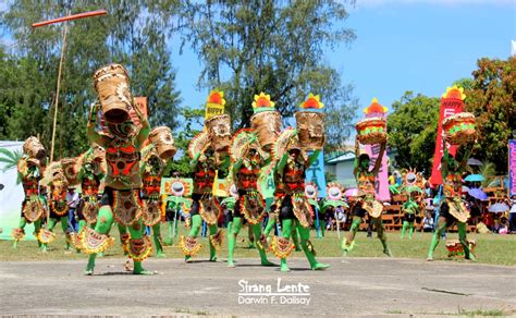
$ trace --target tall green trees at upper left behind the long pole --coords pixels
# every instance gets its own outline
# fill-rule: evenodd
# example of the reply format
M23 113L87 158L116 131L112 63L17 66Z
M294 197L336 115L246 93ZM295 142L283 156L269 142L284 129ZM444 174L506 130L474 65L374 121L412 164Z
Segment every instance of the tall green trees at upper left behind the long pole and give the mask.
M2 136L39 135L50 147L63 24L32 28L35 22L106 9L108 15L69 22L56 140L57 157L87 147L85 126L96 94L93 73L111 62L126 66L134 96L148 98L152 125L177 125L180 102L167 40L174 1L13 1L1 26L17 42L16 54L0 54ZM7 80L7 81L3 81ZM4 85L4 83L7 85Z

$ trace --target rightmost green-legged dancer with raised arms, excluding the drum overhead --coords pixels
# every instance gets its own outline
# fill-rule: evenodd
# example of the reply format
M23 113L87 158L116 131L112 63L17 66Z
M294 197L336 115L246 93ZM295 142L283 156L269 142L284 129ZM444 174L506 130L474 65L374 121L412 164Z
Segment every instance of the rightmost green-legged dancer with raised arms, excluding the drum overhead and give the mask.
M446 138L443 136L444 150L441 159L441 174L443 180L444 199L441 200L438 225L432 236L427 260L433 260L433 252L435 250L443 232L455 223L457 224L458 241L463 246L465 258L476 260L475 255L471 253L470 242L466 236L466 225L469 219L469 211L462 198L463 173L466 169L474 145L475 143L466 145L463 158L458 161L449 152Z

